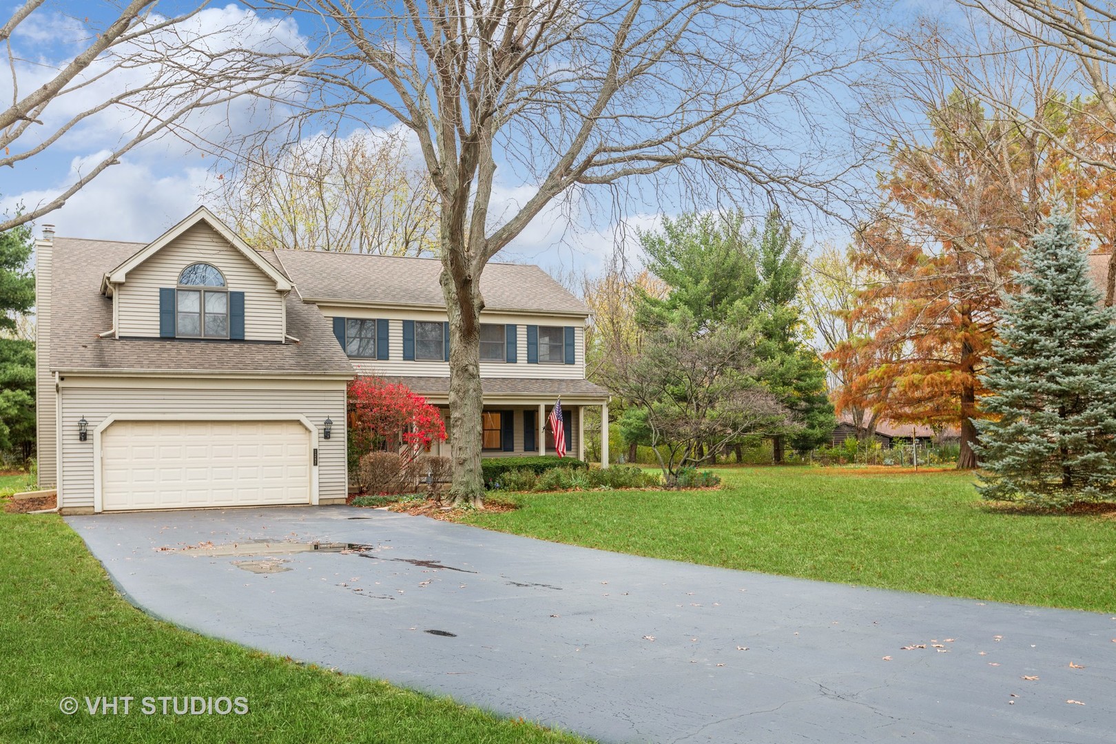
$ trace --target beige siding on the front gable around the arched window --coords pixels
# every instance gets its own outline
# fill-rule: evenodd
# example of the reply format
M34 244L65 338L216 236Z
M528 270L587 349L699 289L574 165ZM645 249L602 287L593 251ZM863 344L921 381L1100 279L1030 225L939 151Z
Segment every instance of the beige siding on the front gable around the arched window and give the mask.
M127 274L115 290L117 335L158 337L158 290L175 287L191 263L210 263L230 291L244 292L244 339L283 340L283 300L275 281L204 222L190 228Z

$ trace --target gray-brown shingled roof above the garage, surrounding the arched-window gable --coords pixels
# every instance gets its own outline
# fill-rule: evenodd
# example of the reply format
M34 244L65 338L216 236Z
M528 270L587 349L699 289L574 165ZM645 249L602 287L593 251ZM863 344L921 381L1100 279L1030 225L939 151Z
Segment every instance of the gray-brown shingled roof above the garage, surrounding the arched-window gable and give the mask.
M353 374L318 309L287 297L287 332L298 344L97 338L113 327L100 279L145 243L55 238L51 259L50 368L277 374ZM273 257L260 253L277 265Z

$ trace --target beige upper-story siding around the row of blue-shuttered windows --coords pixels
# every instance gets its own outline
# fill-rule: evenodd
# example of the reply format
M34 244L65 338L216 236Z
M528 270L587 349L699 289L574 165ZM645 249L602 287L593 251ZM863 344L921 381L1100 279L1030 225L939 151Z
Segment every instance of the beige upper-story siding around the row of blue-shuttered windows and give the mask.
M446 361L405 360L403 358L403 321L444 322L445 313L416 311L369 310L367 308L323 307L323 313L333 322L333 318L377 318L387 319L387 336L389 359L352 359L353 366L360 375L382 375L384 377L449 377L450 364ZM482 361L481 377L532 377L536 379L584 379L585 378L585 318L577 317L528 317L511 315L481 315L482 323L514 325L516 364ZM573 326L574 327L574 364L527 364L527 326Z

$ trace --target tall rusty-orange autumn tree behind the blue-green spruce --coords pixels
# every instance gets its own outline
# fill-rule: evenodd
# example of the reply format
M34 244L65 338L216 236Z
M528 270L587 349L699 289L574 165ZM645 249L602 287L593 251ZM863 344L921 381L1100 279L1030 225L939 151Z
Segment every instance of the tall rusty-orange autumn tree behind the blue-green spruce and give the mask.
M875 331L835 350L858 365L839 403L886 390L888 418L960 428L958 466L975 467L979 375L1020 244L1045 212L1054 151L956 95L930 120L929 145L893 148L884 204L857 235L853 261L879 283L850 317Z

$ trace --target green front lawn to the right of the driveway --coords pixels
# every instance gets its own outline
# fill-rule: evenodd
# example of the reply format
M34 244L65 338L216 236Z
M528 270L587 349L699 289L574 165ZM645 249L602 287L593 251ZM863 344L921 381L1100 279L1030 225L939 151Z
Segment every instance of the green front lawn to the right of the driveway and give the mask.
M720 468L721 491L525 493L479 526L638 555L1116 612L1116 519L981 502L973 475Z

